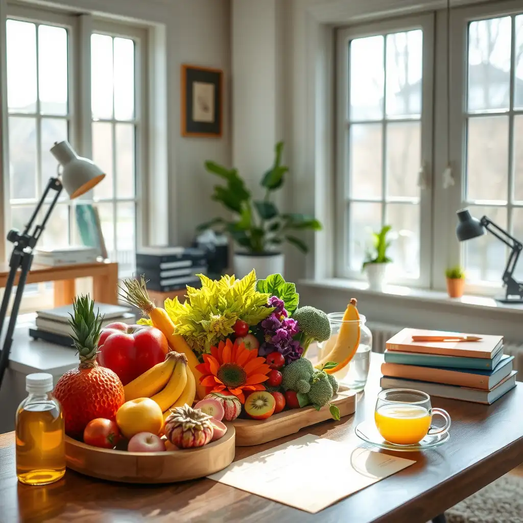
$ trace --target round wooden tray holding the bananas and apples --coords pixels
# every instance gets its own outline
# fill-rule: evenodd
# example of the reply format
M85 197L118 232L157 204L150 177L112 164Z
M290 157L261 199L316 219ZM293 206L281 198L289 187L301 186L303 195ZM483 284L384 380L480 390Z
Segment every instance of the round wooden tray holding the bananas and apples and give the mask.
M124 483L174 483L194 480L228 467L234 459L235 429L198 449L127 452L101 449L65 437L67 467L102 480Z

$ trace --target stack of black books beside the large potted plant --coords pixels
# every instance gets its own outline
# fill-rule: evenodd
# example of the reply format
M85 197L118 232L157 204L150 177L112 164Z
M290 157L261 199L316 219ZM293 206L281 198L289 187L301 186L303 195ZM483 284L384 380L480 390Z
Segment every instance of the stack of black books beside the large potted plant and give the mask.
M196 275L207 275L207 255L192 247L145 247L136 255L136 274L145 276L152 291L200 287Z

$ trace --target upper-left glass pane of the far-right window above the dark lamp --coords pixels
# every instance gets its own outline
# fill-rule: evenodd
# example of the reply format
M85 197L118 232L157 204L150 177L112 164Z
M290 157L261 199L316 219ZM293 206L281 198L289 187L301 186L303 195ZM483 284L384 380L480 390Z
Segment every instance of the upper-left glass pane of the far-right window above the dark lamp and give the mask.
M469 25L469 111L509 108L510 26L509 16Z

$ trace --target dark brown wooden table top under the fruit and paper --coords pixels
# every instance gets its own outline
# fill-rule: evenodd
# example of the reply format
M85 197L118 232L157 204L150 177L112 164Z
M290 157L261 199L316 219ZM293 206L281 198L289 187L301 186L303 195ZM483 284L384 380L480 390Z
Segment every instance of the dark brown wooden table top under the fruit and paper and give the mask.
M356 439L356 423L373 417L382 358L372 354L369 383L359 394L355 416L324 422L286 439L310 433ZM15 475L14 435L4 434L0 521L425 523L523 462L522 404L523 384L491 406L433 398L433 406L445 408L452 417L447 444L423 453L397 453L416 463L315 515L207 479L137 486L93 480L68 470L52 485L21 485ZM237 448L236 459L282 441Z

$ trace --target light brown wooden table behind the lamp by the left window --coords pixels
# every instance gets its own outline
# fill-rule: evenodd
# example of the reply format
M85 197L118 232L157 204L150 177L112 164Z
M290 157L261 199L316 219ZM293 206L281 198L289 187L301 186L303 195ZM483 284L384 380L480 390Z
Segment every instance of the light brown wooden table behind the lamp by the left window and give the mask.
M0 265L0 288L5 287L9 266ZM118 264L112 262L95 262L88 264L63 265L49 267L33 265L27 276L27 283L54 281L54 306L69 305L75 297L76 278L93 278L93 299L101 303L117 304ZM15 285L18 283L18 275Z

